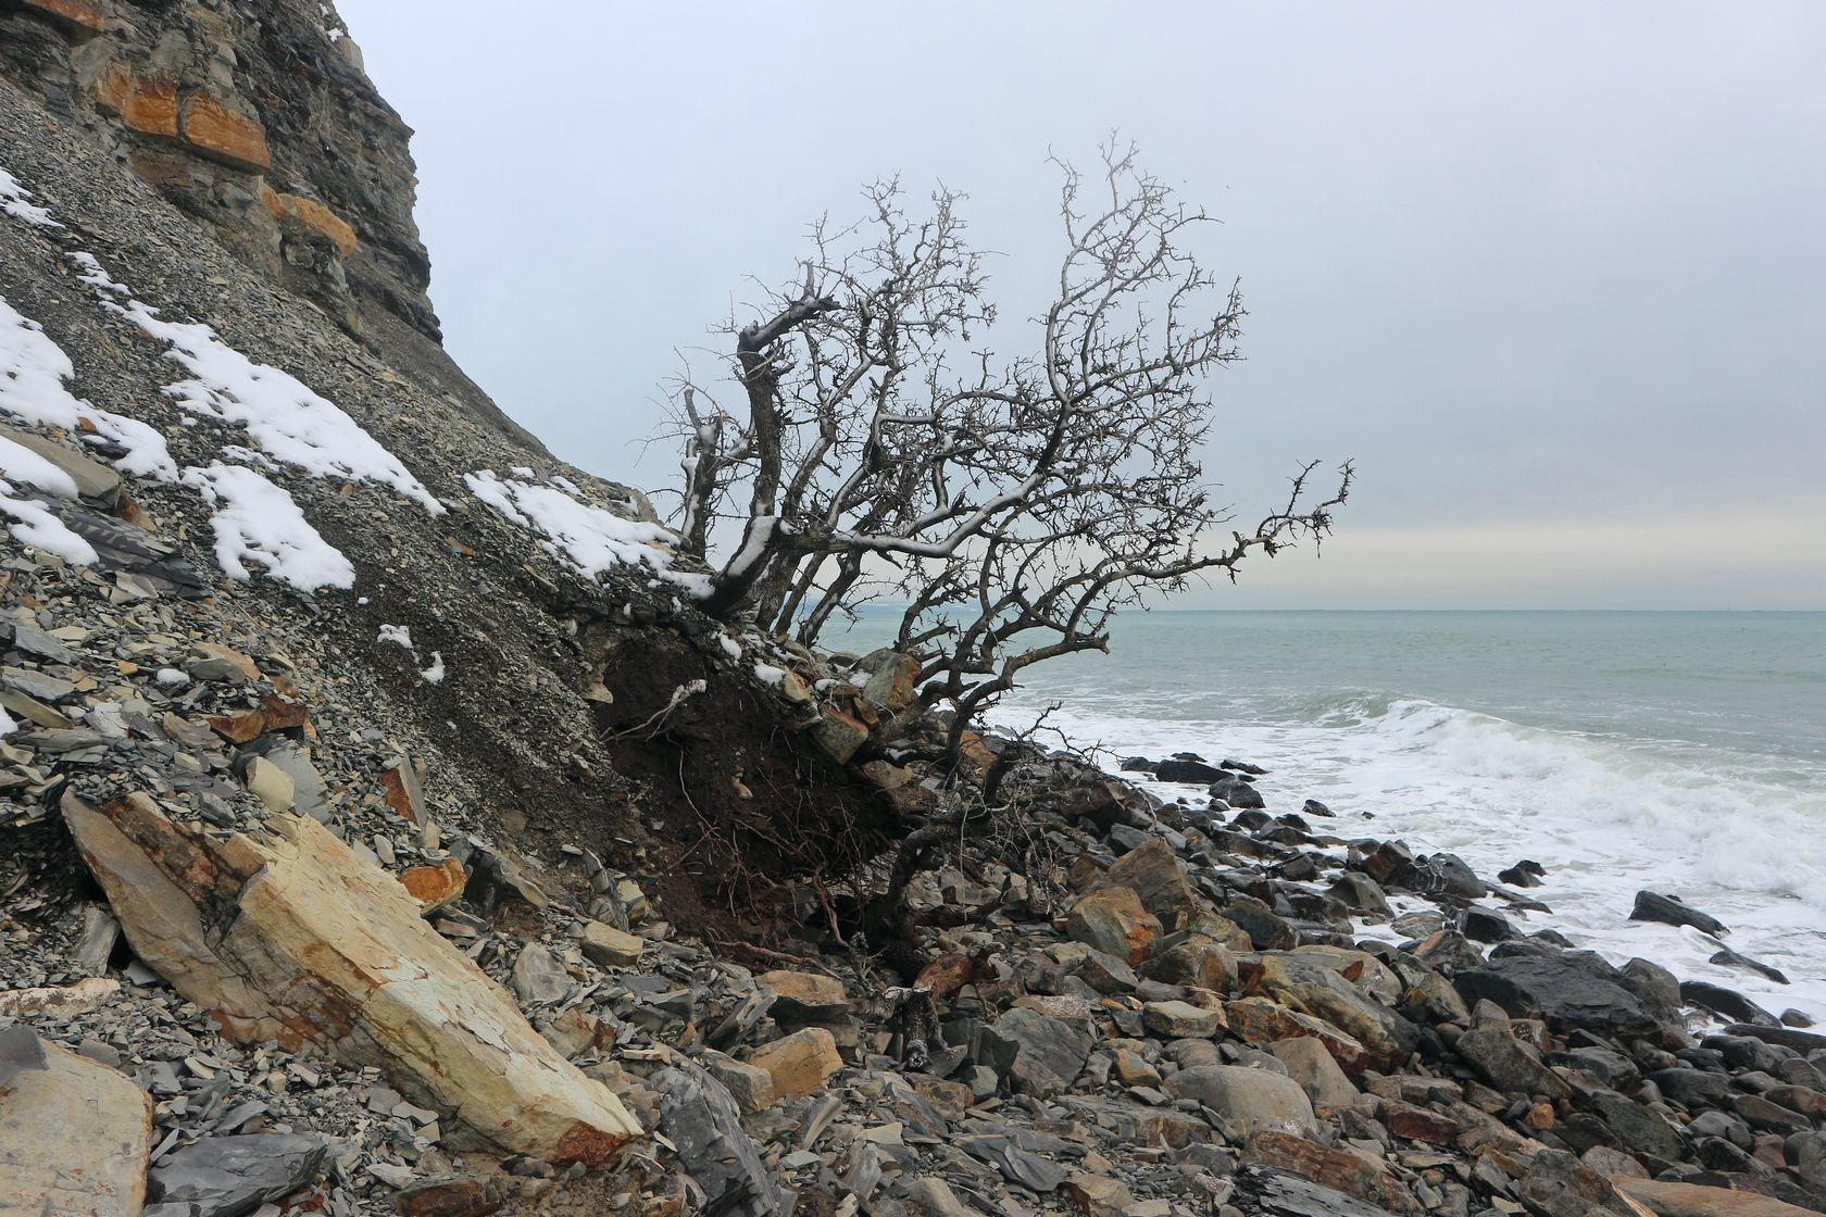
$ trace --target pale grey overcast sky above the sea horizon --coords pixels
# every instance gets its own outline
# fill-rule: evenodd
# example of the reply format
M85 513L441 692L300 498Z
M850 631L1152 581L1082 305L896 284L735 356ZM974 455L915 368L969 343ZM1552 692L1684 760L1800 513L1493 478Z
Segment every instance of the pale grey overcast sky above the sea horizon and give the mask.
M676 348L902 173L1004 312L1119 128L1225 223L1238 515L1353 456L1238 608L1826 608L1826 5L341 0L418 131L447 345L561 458L656 487Z

